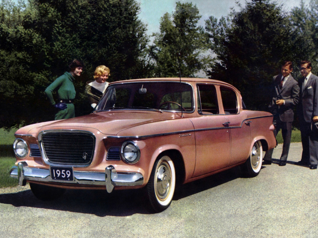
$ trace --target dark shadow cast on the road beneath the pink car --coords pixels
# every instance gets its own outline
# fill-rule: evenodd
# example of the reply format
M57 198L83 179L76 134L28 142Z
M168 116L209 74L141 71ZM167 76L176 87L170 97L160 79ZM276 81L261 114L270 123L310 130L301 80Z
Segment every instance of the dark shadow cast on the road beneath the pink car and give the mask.
M183 184L176 189L173 200L180 200L240 177L242 177L241 170L236 167ZM0 194L0 203L15 207L94 214L100 217L150 214L145 206L143 189L115 190L112 193L107 193L106 190L67 189L58 200L54 201L41 201L33 195L31 189L27 189L17 193Z

